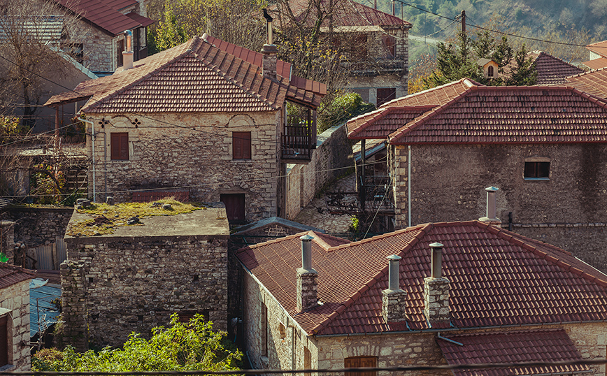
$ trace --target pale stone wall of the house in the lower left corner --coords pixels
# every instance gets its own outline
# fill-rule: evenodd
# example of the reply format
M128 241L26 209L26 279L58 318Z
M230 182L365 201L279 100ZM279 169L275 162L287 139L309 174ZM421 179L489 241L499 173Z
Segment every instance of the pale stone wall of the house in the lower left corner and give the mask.
M0 308L8 313L10 371L29 371L29 280L0 290Z

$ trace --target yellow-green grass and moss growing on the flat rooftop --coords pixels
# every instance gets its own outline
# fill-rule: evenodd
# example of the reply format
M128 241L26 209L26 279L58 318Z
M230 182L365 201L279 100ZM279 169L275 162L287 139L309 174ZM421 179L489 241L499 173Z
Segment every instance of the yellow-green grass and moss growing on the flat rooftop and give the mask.
M159 204L152 206L153 203ZM162 205L166 203L171 205L170 209L162 208ZM66 233L69 236L108 235L114 233L117 227L143 226L141 223L127 224L127 221L131 217L139 217L141 219L155 215L178 215L199 209L206 208L197 203L180 203L175 198L163 198L162 200L150 201L148 203L118 203L116 205L92 203L90 208L78 209L77 211L94 215L94 218L73 224Z

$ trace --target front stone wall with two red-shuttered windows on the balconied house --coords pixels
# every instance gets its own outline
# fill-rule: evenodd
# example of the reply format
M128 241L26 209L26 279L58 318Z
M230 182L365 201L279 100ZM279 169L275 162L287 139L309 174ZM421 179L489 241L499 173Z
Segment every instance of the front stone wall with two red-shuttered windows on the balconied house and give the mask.
M220 201L220 194L245 194L247 221L278 215L278 112L105 115L109 123L103 128L97 124L101 116L88 116L100 133L94 155L98 200L105 201L105 191L124 202L137 189L185 187L190 199L200 202ZM232 159L233 129L251 132L251 159ZM114 132L129 133L129 160L110 159ZM90 139L87 150L92 154ZM89 182L92 194L92 168Z

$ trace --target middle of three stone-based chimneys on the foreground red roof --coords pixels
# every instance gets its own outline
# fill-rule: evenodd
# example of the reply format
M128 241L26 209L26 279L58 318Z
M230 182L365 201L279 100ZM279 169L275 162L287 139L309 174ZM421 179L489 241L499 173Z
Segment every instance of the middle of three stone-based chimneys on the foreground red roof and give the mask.
M400 289L400 256L392 254L387 256L388 262L388 288L382 291L382 316L386 324L406 320L407 293Z

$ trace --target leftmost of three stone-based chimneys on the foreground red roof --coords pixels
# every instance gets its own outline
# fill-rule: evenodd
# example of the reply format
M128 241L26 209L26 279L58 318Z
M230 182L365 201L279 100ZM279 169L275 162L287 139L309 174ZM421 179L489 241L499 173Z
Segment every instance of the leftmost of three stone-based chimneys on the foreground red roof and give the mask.
M318 303L317 277L312 268L312 236L301 236L301 268L297 269L297 310L314 308Z

